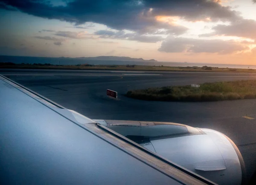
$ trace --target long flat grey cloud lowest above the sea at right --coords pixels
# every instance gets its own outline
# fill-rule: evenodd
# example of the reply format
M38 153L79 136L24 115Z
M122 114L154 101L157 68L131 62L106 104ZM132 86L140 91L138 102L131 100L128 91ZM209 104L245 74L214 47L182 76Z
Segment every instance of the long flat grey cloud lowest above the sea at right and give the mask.
M169 37L163 41L158 51L167 53L191 52L191 53L218 53L230 54L236 51L249 49L239 43L224 40L201 40L183 37Z

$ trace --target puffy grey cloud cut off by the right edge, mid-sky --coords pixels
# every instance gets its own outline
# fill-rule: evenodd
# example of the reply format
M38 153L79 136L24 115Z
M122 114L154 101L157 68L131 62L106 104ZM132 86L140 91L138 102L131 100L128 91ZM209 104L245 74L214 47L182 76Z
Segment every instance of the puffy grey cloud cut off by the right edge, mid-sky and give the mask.
M212 29L215 31L209 34L201 34L200 36L224 35L256 39L256 20L240 19L230 25L217 25Z

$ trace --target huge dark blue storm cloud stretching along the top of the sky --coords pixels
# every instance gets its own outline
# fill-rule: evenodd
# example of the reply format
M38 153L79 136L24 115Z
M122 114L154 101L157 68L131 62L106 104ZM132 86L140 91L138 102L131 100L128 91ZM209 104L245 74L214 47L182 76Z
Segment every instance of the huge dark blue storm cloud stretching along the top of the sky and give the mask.
M235 20L238 12L215 0L73 0L66 6L52 6L44 0L1 0L2 8L13 7L27 14L64 20L76 25L94 22L117 30L128 29L153 33L159 28L172 30L174 25L160 23L154 17L180 16L186 20ZM151 9L152 8L152 9ZM175 29L183 34L185 28ZM179 29L181 33L179 32Z

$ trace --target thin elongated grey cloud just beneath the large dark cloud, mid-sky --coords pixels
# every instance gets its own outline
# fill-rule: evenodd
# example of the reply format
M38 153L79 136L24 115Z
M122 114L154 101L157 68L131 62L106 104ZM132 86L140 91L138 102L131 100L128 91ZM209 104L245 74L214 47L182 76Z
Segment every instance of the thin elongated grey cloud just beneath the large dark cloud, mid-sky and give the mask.
M100 38L134 40L141 43L156 43L163 40L163 37L160 36L148 36L140 35L137 33L125 33L125 31L115 32L110 30L99 30L95 31L94 34L100 35Z

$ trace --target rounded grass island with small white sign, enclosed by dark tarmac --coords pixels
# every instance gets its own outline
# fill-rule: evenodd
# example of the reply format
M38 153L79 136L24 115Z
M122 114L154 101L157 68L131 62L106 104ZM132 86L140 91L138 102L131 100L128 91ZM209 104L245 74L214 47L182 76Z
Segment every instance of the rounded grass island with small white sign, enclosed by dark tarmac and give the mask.
M152 101L221 101L256 98L256 80L204 83L200 88L169 86L128 91L127 97Z

